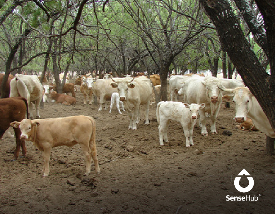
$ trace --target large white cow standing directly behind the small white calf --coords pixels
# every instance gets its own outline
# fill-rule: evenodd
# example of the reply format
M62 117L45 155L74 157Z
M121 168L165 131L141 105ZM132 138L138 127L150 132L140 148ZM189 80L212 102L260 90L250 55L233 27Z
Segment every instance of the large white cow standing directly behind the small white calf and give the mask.
M208 136L206 130L206 115L210 114L211 133L216 134L216 118L221 107L222 93L218 87L222 86L216 77L199 77L193 75L184 82L184 101L191 103L205 103L205 107L199 110L201 135ZM181 94L182 91L180 91Z

